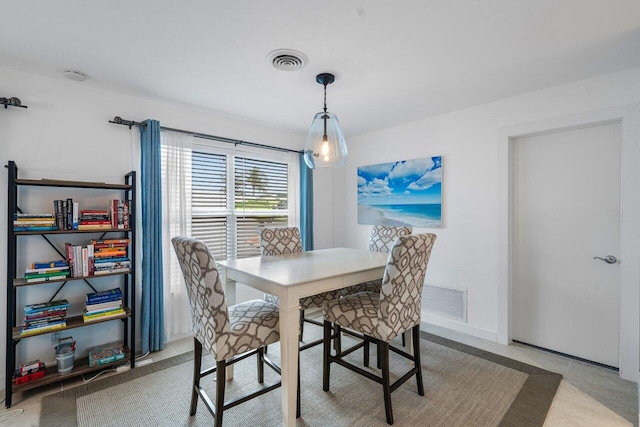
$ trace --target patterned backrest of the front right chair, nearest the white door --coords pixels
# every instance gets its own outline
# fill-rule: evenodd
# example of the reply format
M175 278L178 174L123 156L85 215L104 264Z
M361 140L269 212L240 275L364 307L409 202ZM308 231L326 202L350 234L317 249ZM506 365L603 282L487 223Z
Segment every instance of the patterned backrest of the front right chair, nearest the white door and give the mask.
M379 334L390 340L420 324L422 287L436 235L400 236L391 248L382 278Z

